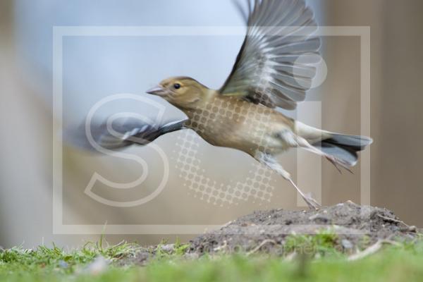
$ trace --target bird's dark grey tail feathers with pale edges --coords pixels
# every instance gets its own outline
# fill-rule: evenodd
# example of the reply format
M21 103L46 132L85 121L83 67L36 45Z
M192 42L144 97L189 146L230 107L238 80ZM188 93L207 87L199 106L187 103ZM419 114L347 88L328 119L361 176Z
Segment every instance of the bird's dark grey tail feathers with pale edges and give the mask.
M357 152L364 150L372 142L372 138L366 136L331 133L331 137L314 143L312 146L324 152L326 158L335 166L340 164L348 169L357 164Z

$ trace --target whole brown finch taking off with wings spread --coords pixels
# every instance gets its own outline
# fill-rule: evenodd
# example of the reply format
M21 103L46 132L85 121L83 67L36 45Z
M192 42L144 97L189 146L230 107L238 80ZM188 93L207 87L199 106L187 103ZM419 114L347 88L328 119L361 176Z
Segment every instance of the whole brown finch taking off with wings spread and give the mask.
M300 148L326 158L339 171L350 171L357 164L357 153L373 140L314 128L278 110L296 109L312 86L321 59L321 39L314 36L318 25L304 0L247 3L247 33L222 87L214 90L187 76L166 78L147 93L183 111L185 119L154 128L130 125L126 128L133 129L120 139L102 134L97 140L116 149L145 145L176 130L194 130L211 145L250 155L288 180L310 209L319 209L320 204L298 188L276 157Z

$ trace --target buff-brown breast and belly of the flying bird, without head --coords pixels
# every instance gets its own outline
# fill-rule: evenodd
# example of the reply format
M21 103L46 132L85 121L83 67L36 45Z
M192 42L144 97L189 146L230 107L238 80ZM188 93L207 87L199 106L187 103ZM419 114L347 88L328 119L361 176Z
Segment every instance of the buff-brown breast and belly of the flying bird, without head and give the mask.
M262 152L281 152L284 145L278 133L290 125L273 109L249 102L208 104L188 114L188 128L211 145L239 149L254 156Z

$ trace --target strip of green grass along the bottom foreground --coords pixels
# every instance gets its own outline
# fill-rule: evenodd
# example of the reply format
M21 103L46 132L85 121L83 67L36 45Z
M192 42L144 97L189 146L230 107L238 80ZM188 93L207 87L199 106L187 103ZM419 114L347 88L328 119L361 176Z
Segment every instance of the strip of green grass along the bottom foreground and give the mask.
M172 253L161 250L162 245L150 250L156 258L147 266L118 266L140 251L139 246L127 243L106 247L90 243L70 252L54 246L15 247L0 251L0 281L422 281L421 242L386 246L374 255L348 262L347 255L336 249L336 240L330 232L290 237L287 252L299 254L291 261L257 254L188 260L182 256L188 245L177 242ZM305 255L305 247L312 252ZM87 271L99 256L111 264L99 274Z

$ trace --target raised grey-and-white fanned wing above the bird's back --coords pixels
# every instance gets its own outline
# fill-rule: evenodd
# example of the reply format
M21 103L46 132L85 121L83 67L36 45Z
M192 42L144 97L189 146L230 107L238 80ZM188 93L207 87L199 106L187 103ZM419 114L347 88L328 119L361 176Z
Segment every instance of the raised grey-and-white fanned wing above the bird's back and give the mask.
M295 109L316 75L319 37L304 0L255 0L243 47L221 94Z

